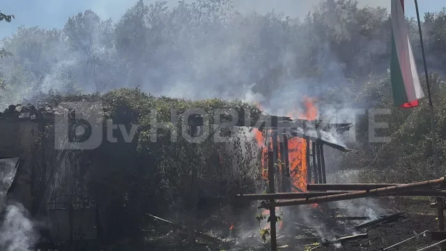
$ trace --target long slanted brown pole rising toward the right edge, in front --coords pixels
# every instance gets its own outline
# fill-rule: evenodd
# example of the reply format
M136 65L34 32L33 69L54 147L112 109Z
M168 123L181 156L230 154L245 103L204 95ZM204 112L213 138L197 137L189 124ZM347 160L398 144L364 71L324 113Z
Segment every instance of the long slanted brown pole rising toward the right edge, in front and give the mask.
M327 195L322 197L313 197L308 199L291 199L288 201L275 202L275 206L298 206L303 204L317 204L331 201L341 201L347 199L359 199L364 197L374 197L380 195L391 195L397 192L406 192L415 189L430 188L434 185L445 185L445 177L438 178L430 181L421 181L417 183L394 185L387 188L376 188L373 190L363 190L357 192L347 192L341 195ZM264 207L265 204L262 205Z

